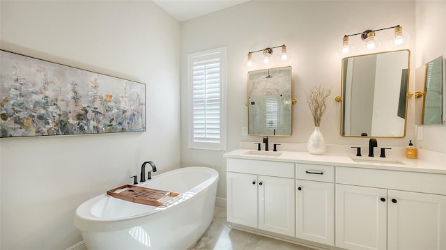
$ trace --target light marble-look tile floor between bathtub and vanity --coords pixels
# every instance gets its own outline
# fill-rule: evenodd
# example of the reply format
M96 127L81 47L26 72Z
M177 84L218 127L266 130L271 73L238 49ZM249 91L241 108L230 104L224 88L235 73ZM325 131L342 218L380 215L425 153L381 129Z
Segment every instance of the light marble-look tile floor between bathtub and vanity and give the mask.
M192 250L315 250L309 247L282 242L237 229L229 228L226 209L215 207L214 219L208 231Z

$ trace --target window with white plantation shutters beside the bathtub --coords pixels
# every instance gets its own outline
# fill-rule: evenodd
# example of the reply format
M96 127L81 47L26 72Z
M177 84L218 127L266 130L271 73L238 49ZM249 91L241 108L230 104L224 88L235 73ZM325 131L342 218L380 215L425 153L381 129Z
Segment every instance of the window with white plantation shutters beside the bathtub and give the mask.
M226 150L226 49L189 54L190 148Z

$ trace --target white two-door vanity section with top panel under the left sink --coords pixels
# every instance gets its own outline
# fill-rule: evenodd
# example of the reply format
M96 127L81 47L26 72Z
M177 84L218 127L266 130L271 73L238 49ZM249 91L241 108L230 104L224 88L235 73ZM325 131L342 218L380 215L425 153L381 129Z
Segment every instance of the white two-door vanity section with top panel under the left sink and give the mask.
M294 164L229 158L226 166L228 221L294 236Z

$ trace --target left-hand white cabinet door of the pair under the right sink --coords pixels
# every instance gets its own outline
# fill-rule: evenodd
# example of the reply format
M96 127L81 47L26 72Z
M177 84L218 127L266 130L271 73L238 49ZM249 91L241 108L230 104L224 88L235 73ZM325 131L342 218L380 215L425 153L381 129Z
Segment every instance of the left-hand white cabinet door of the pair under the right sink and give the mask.
M336 185L335 245L387 248L387 189Z

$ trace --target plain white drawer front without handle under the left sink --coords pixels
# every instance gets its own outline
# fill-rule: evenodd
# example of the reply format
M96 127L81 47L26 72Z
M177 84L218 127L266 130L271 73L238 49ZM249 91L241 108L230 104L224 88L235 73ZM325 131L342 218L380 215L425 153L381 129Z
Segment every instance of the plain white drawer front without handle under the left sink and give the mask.
M230 172L294 178L294 164L291 162L270 162L255 159L228 158L226 167L226 170Z

